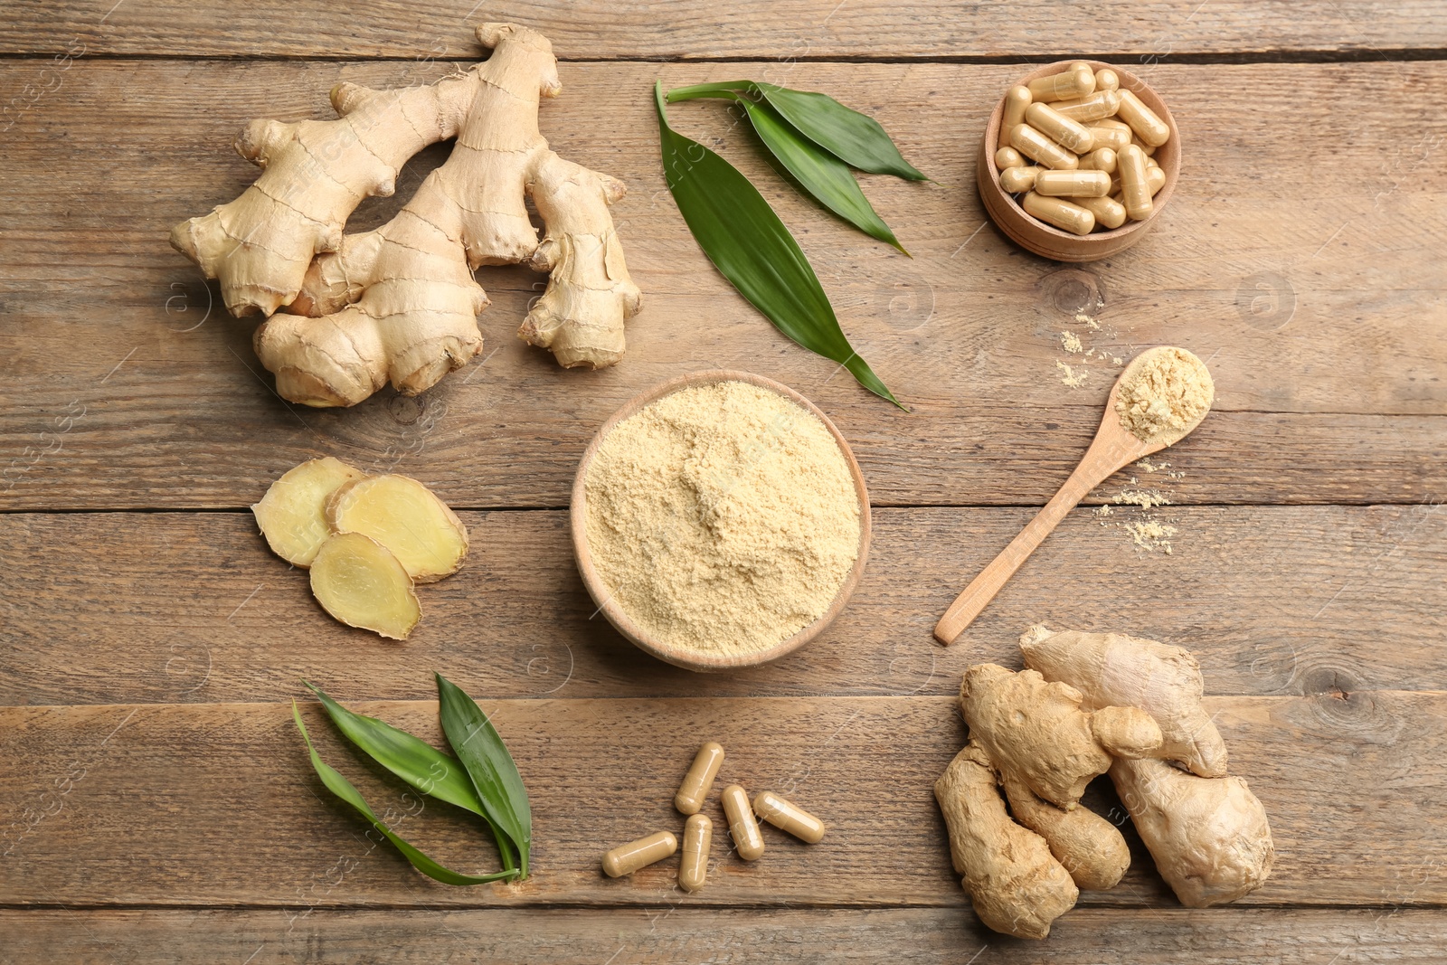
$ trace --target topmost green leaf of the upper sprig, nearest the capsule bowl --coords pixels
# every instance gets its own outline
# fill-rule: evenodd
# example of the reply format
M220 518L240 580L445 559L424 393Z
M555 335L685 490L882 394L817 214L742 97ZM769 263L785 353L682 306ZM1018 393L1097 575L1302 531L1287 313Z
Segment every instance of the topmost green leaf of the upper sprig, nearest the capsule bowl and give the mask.
M796 91L776 84L754 81L724 81L721 84L696 84L669 91L670 101L693 97L719 97L725 91L739 91L751 101L767 100L784 119L806 137L825 150L832 152L851 168L870 174L893 174L907 181L929 181L904 161L899 148L886 133L880 122L868 114L851 110L829 97L815 91Z

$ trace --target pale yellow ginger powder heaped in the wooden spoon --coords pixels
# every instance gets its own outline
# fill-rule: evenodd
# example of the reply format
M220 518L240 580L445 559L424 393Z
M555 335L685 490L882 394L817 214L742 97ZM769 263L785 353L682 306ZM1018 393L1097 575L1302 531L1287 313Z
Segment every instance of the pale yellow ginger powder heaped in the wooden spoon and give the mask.
M1185 349L1142 352L1120 376L1116 412L1145 443L1171 446L1211 408L1214 386L1205 365Z

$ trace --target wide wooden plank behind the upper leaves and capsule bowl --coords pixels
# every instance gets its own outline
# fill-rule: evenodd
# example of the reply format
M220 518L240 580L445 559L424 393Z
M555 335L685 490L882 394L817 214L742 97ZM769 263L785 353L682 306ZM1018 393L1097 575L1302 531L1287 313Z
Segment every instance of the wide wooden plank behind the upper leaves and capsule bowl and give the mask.
M0 210L3 505L236 508L259 480L334 454L398 464L454 505L559 506L622 401L728 366L829 412L878 503L1040 505L1090 440L1111 359L1155 343L1192 349L1217 382L1217 411L1171 453L1188 470L1181 502L1431 502L1447 490L1447 340L1424 337L1441 323L1447 117L1434 91L1447 65L1142 68L1182 132L1179 191L1146 242L1088 271L984 227L975 142L1017 68L794 64L776 78L878 114L939 179L867 179L913 260L789 194L722 111L676 106L682 130L715 136L764 185L912 415L774 333L709 266L664 190L653 78L768 67L563 67L567 91L547 104L544 133L631 187L615 214L647 307L621 366L563 372L521 344L512 333L538 276L486 271L485 362L420 399L383 392L339 412L275 398L253 323L205 314L213 292L165 233L250 181L227 148L247 119L327 116L337 80L418 82L449 65L72 64L0 140L6 184L25 185ZM0 64L0 90L39 82L39 69ZM356 227L395 210L441 156L414 162L398 197L365 205ZM1305 175L1321 156L1334 159L1330 194ZM1098 330L1077 321L1085 308ZM1092 354L1066 353L1065 330ZM1062 385L1058 363L1085 370L1084 386Z

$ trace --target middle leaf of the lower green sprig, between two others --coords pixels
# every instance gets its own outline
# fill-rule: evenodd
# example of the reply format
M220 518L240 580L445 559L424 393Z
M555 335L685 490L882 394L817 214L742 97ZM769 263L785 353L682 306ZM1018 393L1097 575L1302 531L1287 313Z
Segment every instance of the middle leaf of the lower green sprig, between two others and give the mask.
M502 867L509 871L518 867L508 836L492 820L486 809L483 809L482 802L478 799L478 790L472 786L472 780L462 764L457 762L457 758L443 754L427 741L394 728L385 720L353 713L328 697L320 687L305 680L301 683L307 684L317 694L317 699L321 700L321 706L327 709L337 729L349 741L366 751L373 761L421 793L449 804L456 804L463 810L470 810L486 820L492 828L493 838L498 839Z

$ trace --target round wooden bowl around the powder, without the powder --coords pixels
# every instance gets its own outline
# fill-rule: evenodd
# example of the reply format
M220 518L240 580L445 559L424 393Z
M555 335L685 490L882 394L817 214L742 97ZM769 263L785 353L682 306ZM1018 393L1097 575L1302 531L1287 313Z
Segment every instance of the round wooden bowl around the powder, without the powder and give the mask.
M768 389L770 392L777 392L790 402L794 402L800 408L812 412L829 434L833 435L833 441L839 444L839 451L844 453L844 462L849 466L849 476L854 479L854 492L860 498L860 554L854 560L854 567L849 574L844 579L839 586L839 592L835 593L833 602L829 603L826 609L818 619L800 629L793 637L783 639L767 650L760 650L752 654L739 654L737 657L728 655L712 655L700 654L697 651L683 650L677 647L670 647L657 639L648 637L641 626L628 618L628 613L622 611L621 606L614 600L612 593L603 584L602 577L598 570L593 569L592 556L587 551L587 488L585 480L587 477L587 467L593 462L593 456L598 453L598 447L602 444L608 433L612 431L618 422L624 421L642 407L650 402L657 402L666 395L671 395L679 389L686 389L695 385L710 385L715 382L748 382ZM577 464L577 475L573 477L573 503L569 509L572 532L573 532L573 556L577 560L577 571L583 576L583 586L587 587L587 595L593 598L593 603L598 609L608 618L608 622L614 628L627 637L640 650L653 654L658 660L664 660L677 667L684 667L687 670L699 671L716 671L716 670L737 670L741 667L758 667L760 664L767 664L771 660L777 660L784 654L799 650L810 639L823 632L844 605L849 600L849 595L854 593L854 587L860 584L860 577L864 576L864 563L870 553L870 493L864 488L864 476L860 473L860 464L854 460L854 453L849 451L849 444L835 428L829 417L820 412L813 402L799 395L786 385L780 385L773 379L765 379L761 375L754 375L751 372L735 372L731 369L713 369L709 372L693 372L689 375L682 375L676 379L670 379L663 385L657 385L645 392L641 392L624 404L621 409L612 414L612 417L603 422L602 428L598 430L598 435L589 443L587 450L583 453L582 462Z

